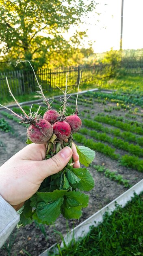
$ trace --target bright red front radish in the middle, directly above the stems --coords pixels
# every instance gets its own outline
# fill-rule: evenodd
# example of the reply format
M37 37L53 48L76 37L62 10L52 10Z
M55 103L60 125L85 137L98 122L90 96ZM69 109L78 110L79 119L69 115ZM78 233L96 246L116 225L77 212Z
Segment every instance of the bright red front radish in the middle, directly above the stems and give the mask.
M58 121L53 124L53 132L58 139L65 140L71 135L71 128L67 122Z

